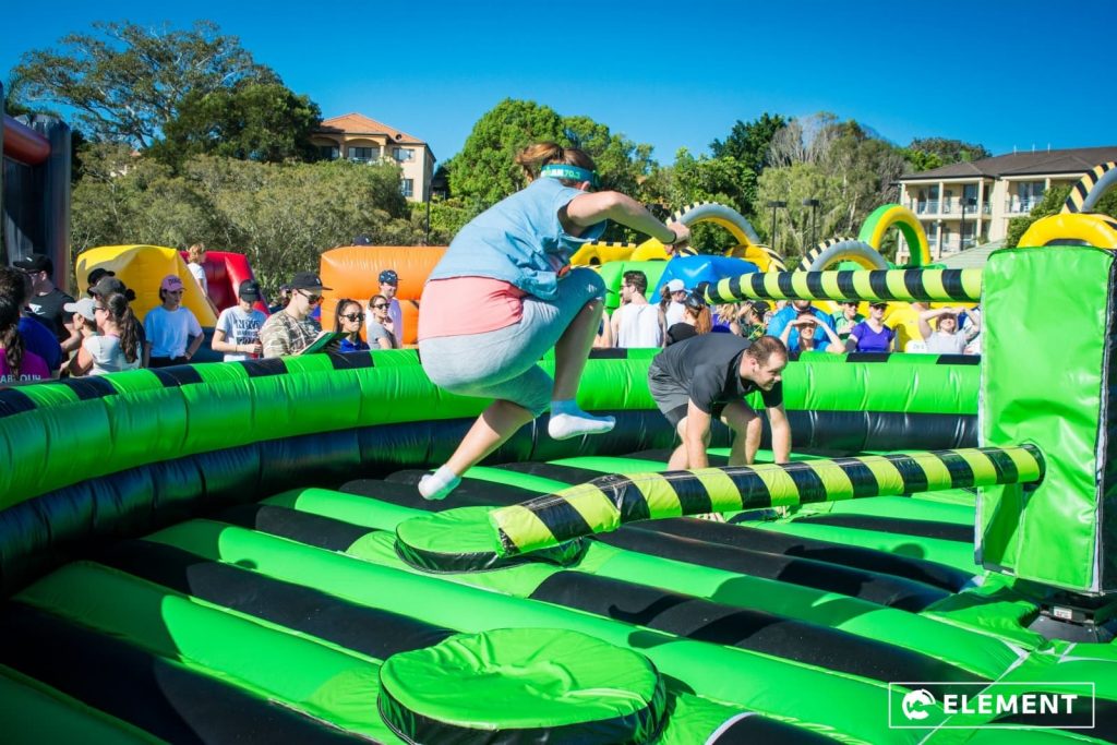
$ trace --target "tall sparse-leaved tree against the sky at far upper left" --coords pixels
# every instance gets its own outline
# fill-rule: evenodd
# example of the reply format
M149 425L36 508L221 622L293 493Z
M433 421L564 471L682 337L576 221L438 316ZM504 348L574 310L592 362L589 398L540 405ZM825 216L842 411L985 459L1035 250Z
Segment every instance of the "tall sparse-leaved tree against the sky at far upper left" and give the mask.
M96 140L144 147L192 93L279 83L237 37L220 35L211 21L197 21L187 31L103 21L94 29L97 34L63 37L60 50L26 52L12 74L25 105L73 107Z

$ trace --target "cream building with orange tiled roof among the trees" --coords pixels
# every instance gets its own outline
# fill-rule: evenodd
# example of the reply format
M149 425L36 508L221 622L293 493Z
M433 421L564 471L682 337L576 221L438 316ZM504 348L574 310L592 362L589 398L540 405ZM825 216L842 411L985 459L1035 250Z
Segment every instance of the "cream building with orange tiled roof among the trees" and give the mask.
M435 153L426 142L363 114L324 120L312 142L326 160L355 163L390 160L399 164L400 190L412 202L426 201L435 175Z

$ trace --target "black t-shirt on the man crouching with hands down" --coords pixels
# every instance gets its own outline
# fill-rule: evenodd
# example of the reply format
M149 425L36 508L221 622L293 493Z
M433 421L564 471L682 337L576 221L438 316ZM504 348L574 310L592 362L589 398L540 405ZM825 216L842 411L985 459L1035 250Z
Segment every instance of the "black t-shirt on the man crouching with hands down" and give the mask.
M752 342L736 334L703 334L671 344L651 361L653 374L666 375L685 385L690 400L706 413L729 401L739 401L761 389L741 380L741 355ZM783 403L783 381L771 391L761 391L765 407Z

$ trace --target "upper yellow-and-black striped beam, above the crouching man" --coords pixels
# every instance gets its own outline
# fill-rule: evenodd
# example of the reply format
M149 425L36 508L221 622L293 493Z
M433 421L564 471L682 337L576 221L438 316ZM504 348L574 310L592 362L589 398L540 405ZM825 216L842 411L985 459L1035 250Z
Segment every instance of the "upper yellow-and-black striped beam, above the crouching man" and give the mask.
M746 299L976 303L981 269L757 271L727 277L706 289L708 303Z

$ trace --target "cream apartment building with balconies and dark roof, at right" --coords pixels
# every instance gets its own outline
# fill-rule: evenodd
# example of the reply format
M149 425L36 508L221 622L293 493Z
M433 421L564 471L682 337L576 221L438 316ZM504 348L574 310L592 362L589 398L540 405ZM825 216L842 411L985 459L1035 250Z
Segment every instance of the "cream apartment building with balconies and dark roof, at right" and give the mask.
M1004 238L1012 218L1024 217L1048 189L1069 185L1099 163L1117 160L1117 146L1047 150L953 163L899 179L899 203L919 218L935 259ZM908 247L900 237L897 260Z

